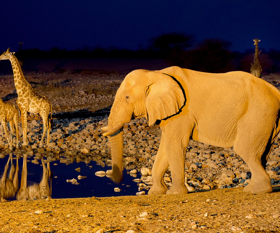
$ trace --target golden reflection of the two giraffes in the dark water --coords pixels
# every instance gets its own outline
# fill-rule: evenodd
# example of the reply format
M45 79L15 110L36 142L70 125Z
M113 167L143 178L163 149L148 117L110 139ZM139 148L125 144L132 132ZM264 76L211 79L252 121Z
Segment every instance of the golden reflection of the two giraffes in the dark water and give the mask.
M16 158L16 168L13 165L12 154L8 158L8 162L5 166L4 174L1 178L0 184L0 197L3 198L12 198L16 196L16 199L19 200L33 200L46 198L51 196L51 172L50 172L50 163L43 163L43 176L40 183L33 183L31 185L27 184L27 155L23 155L23 164L22 164L22 174L19 187L18 180L18 158ZM9 177L7 176L9 162L11 163L11 168L9 172ZM50 180L50 185L49 185ZM36 197L36 198L34 198Z

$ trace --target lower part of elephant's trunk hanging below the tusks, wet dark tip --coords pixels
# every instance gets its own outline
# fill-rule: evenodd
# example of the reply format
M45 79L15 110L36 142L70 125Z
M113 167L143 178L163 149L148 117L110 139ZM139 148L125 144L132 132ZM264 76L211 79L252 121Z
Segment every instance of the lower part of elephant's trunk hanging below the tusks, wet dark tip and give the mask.
M111 155L112 155L112 169L113 177L112 180L115 183L122 181L122 154L123 154L123 131L119 130L117 133L108 137Z

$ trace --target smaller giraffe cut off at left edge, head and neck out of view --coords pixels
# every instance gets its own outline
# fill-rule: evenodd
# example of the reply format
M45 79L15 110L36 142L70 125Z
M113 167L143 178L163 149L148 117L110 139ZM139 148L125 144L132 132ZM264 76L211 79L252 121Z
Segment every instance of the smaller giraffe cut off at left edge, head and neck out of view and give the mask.
M9 141L6 123L9 122L11 130L11 140ZM18 148L18 110L15 105L11 103L6 103L0 98L0 123L3 126L4 133L6 135L7 141L9 143L10 150L13 149L13 134L16 132Z

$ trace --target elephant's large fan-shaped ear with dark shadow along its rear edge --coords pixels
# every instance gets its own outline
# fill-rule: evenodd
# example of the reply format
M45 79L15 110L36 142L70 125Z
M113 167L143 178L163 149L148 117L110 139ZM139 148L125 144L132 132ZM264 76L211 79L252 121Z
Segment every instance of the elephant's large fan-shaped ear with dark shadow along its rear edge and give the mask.
M176 114L185 103L185 93L170 75L149 72L147 76L152 81L146 89L146 118L150 126Z

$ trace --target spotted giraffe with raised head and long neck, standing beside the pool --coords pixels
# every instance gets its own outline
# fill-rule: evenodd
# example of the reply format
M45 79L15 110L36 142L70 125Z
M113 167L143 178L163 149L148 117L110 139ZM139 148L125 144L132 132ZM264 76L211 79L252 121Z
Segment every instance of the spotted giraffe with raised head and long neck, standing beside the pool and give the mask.
M13 73L15 89L17 90L17 106L20 109L21 120L22 120L22 131L23 131L23 145L27 146L27 112L29 113L39 113L43 121L43 135L39 147L43 146L43 141L47 132L47 142L48 146L50 142L50 119L52 119L52 103L46 96L36 93L31 85L24 78L22 70L20 68L17 58L14 56L15 52L10 52L10 48L7 49L0 56L0 60L10 60ZM50 113L50 119L49 119Z

